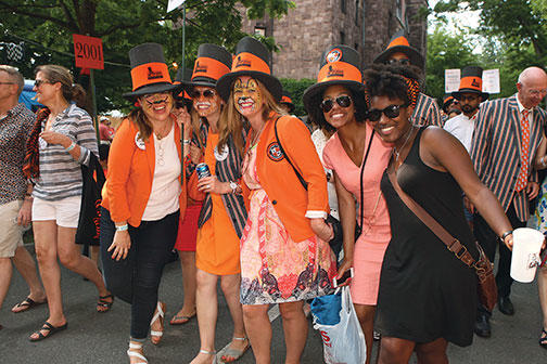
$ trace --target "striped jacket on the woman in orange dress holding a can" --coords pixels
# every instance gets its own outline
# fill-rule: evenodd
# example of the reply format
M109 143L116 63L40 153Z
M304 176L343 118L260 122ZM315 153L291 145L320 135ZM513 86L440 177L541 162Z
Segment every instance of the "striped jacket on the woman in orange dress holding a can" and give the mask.
M202 145L207 144L207 134L208 127L202 122L200 126L200 140ZM245 140L245 131L243 130L243 141ZM195 138L195 135L194 135ZM243 167L243 156L238 151L236 145L233 144L233 140L230 135L228 140L228 157L224 160L218 160L215 164L215 174L220 182L229 182L229 181L240 181L242 176L242 167ZM194 171L195 173L195 171ZM243 229L246 223L246 207L245 207L245 196L238 194L222 194L220 195L222 198L224 206L226 208L226 212L230 217L230 221L236 230L236 234L241 238L243 234ZM198 219L198 227L202 227L203 224L211 218L213 214L213 200L211 199L211 194L206 194L205 199L203 200L203 206L200 211L200 217Z

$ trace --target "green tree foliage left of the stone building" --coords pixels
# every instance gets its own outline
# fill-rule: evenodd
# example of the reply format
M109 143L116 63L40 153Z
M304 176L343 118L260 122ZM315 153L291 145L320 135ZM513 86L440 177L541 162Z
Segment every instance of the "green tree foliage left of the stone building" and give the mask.
M199 44L212 42L229 51L243 36L241 13L250 17L282 16L293 5L289 0L187 0L186 66L191 68ZM102 38L104 70L96 73L98 109L119 108L130 90L128 51L143 42L164 46L168 65L181 64L182 30L174 27L181 12L166 13L167 0L0 0L2 41L25 43L25 56L13 62L0 52L2 62L20 68L26 78L40 64L74 67L72 34ZM270 48L272 47L271 40ZM5 47L4 47L5 50ZM175 69L173 69L175 76ZM78 77L87 86L87 77Z

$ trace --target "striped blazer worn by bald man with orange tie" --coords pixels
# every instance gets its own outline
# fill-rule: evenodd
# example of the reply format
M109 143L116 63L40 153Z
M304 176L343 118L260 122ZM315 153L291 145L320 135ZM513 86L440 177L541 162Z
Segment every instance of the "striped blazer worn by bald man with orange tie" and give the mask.
M547 113L534 108L530 129L529 180L537 182L533 161L542 141ZM516 192L521 168L521 123L517 95L498 99L481 105L474 125L471 159L481 181L496 195L507 211L514 200L514 210L521 221L526 221L529 199L525 188Z

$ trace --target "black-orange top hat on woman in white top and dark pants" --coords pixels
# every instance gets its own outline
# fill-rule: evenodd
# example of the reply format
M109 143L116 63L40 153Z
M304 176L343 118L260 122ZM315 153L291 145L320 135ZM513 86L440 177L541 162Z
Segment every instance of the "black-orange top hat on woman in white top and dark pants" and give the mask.
M133 100L149 93L177 91L182 84L171 82L169 69L165 64L163 48L157 43L143 43L129 51L131 63L132 92L124 98Z

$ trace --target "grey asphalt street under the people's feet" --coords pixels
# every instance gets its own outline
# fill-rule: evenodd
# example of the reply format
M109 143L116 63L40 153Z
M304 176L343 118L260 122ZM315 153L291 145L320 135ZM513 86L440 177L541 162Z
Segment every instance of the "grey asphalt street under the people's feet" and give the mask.
M93 285L67 270L62 271L62 289L68 329L39 342L28 341L28 336L39 328L48 316L46 306L14 314L10 309L27 295L21 275L14 271L12 285L0 310L0 363L128 363L125 351L129 337L129 306L116 301L107 313L94 311L97 291ZM161 299L167 303L167 321L178 311L182 301L182 284L178 262L166 266L161 286ZM533 284L514 284L512 300L517 313L503 315L497 309L492 318L493 336L475 337L471 347L449 346L450 363L539 364L547 363L547 350L537 344L540 332L540 310L537 287ZM231 320L219 291L219 317L216 349L225 347L231 338ZM271 315L275 316L276 308ZM281 320L275 318L272 363L283 363L284 341ZM322 343L309 325L309 335L302 363L322 363ZM164 339L155 347L147 343L145 355L154 363L189 363L200 349L195 318L182 326L166 325ZM376 344L372 354L376 354ZM239 363L253 363L247 351ZM412 363L416 360L412 359Z

